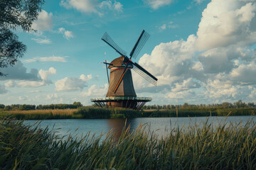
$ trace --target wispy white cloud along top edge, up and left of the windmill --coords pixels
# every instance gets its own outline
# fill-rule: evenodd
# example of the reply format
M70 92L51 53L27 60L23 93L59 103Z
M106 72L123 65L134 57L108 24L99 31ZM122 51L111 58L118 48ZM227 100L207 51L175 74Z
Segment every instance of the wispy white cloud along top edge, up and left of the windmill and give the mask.
M60 6L65 8L75 8L82 13L98 13L103 15L103 10L122 12L122 4L118 1L97 1L97 0L62 0Z

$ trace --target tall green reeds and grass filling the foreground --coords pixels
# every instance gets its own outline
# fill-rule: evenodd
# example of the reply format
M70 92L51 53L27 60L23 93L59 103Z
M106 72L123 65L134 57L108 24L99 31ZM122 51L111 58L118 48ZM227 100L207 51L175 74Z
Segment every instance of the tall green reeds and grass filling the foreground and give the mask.
M0 169L256 169L255 123L176 129L165 138L139 126L114 141L88 133L65 140L47 128L2 119Z

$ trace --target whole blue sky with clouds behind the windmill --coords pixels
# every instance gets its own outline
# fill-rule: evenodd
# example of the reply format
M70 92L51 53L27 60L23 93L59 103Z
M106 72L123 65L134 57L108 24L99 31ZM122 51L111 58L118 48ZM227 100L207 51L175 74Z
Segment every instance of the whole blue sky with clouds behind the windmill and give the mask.
M255 13L255 0L46 0L37 31L16 30L27 51L1 69L0 103L91 105L107 94L100 62L119 57L102 35L130 52L143 29L151 36L134 62L158 85L132 77L149 105L256 103Z

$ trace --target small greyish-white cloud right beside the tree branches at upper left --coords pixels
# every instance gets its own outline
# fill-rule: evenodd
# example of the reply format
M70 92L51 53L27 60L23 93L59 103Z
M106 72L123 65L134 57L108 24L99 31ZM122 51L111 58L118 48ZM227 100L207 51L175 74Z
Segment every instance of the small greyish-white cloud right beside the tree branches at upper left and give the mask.
M35 30L50 30L53 25L52 16L53 13L47 13L42 10L39 13L38 19L33 22L32 28Z

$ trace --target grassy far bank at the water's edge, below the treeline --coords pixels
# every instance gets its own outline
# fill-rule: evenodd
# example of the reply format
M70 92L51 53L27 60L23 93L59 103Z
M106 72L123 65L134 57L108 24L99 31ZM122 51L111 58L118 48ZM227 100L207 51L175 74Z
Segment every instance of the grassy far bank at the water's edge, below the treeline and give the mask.
M53 109L31 111L0 111L1 115L12 115L17 119L67 119L67 118L158 118L194 117L218 115L255 115L256 108L179 108L162 110L134 111L124 108L95 108L90 106L78 109Z

